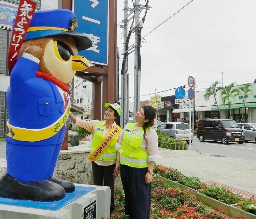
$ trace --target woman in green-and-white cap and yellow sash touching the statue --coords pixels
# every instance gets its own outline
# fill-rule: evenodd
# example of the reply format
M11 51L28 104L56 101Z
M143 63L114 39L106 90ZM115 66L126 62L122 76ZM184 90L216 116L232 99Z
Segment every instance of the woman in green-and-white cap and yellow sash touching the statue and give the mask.
M115 120L122 113L121 106L117 103L105 103L106 111L104 120L82 120L76 118L71 113L70 119L76 126L80 126L93 134L91 142L94 185L109 186L111 189L110 212L114 210L114 179L119 174L119 169L116 167L115 144L118 141L118 135L122 129L116 125Z

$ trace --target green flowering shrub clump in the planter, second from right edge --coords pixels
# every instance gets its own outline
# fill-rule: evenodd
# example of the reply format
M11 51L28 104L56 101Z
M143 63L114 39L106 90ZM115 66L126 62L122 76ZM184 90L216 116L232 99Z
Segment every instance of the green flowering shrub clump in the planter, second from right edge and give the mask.
M205 185L201 193L228 205L238 203L243 199L242 195L235 194L224 187L216 185Z

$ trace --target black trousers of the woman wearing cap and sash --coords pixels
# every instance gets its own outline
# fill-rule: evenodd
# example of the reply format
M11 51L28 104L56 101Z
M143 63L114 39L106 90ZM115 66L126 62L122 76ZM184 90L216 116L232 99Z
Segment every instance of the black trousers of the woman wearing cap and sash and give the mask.
M113 211L115 208L114 202L114 183L115 179L113 176L114 169L116 164L110 166L100 166L95 162L91 162L93 167L93 184L95 186L109 186L111 189L111 198L110 198L110 211ZM104 181L104 184L103 184Z

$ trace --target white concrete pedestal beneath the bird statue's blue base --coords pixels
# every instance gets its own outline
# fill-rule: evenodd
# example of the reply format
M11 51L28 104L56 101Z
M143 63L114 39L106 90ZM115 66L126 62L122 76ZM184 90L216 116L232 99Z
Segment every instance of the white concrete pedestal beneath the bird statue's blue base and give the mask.
M110 216L110 188L75 184L75 186L96 187L59 210L20 207L0 204L1 219L107 219ZM95 203L96 201L96 203ZM95 205L95 206L94 206ZM96 207L96 217L93 213Z

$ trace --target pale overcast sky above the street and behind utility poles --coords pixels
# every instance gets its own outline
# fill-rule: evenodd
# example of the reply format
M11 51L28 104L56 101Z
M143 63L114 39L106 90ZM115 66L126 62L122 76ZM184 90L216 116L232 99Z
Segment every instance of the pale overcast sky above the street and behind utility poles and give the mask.
M132 0L128 2L132 8ZM152 9L147 12L141 35L145 36L188 2L150 0ZM118 0L117 4L117 24L122 24L124 1ZM185 85L189 75L195 77L197 91L214 81L222 83L221 72L224 72L224 85L253 83L256 78L255 8L255 0L194 0L146 36L146 43L141 47L141 95L150 94L150 89L154 92L156 88L159 92ZM143 16L144 12L140 19ZM123 29L117 27L119 51L123 50L122 33ZM133 43L134 34L129 45ZM121 67L122 59L119 73ZM133 68L134 53L128 56L130 97L133 96ZM121 78L119 84L121 86ZM174 90L160 93L161 96L173 94ZM148 99L150 95L141 97L141 100ZM133 102L133 98L129 100Z

